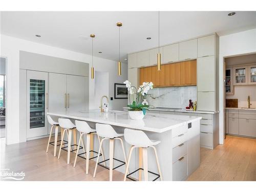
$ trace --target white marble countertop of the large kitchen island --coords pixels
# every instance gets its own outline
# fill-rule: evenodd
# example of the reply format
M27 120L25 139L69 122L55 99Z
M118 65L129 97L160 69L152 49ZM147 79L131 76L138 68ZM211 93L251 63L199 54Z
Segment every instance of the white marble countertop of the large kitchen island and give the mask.
M153 114L147 112L142 120L132 120L128 112L125 111L110 111L101 113L99 110L82 112L48 112L47 114L156 133L163 133L165 131L174 129L175 127L201 119L201 117L196 116Z

